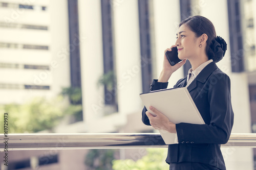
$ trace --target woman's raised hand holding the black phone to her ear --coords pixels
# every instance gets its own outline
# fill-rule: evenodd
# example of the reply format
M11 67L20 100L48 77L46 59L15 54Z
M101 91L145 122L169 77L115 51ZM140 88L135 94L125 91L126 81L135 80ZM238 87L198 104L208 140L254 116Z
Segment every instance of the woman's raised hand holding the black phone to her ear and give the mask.
M159 76L158 82L167 82L172 76L172 74L179 69L182 65L186 63L186 59L182 60L180 63L175 64L174 66L170 65L167 57L165 56L166 51L172 51L171 48L176 47L176 45L172 45L170 48L166 48L164 51L164 59L163 59L163 68L161 74Z

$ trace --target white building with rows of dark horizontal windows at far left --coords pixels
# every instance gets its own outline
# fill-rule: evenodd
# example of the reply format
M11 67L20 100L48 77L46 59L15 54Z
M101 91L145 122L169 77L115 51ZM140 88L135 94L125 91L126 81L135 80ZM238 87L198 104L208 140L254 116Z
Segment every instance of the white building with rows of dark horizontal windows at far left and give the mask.
M67 4L60 4L0 1L1 104L49 99L70 86Z

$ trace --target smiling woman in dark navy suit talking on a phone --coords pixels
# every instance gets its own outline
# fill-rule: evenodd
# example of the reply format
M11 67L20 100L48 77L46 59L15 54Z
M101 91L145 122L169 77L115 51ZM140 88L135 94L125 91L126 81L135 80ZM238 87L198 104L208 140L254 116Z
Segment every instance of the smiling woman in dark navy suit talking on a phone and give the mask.
M151 90L167 88L173 72L189 60L192 68L188 76L174 87L187 87L205 124L174 124L153 107L150 112L156 116L144 107L142 122L158 130L177 133L177 144L168 145L166 162L170 169L226 169L220 144L228 141L233 126L230 79L216 65L226 52L226 42L216 36L210 20L193 16L180 23L177 41L171 48L175 46L183 61L171 66L164 56L161 74L151 84Z

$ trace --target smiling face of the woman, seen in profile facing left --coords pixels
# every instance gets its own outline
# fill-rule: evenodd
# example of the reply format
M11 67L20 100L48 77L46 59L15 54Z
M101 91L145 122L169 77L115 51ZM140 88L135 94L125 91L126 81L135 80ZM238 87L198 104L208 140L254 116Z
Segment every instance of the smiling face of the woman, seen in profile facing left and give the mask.
M195 58L198 54L199 38L185 24L181 25L175 45L178 48L178 57L181 60Z

